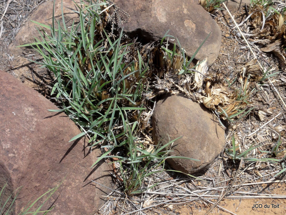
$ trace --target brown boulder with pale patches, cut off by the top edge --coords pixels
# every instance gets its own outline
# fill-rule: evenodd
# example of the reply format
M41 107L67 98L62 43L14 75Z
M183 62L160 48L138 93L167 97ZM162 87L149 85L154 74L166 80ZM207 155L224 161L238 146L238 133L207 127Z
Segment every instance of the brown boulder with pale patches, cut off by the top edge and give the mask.
M124 24L126 32L148 40L161 40L170 30L168 34L178 38L189 56L212 32L196 59L208 57L208 64L216 60L221 47L221 30L197 0L114 0L114 3L129 14Z

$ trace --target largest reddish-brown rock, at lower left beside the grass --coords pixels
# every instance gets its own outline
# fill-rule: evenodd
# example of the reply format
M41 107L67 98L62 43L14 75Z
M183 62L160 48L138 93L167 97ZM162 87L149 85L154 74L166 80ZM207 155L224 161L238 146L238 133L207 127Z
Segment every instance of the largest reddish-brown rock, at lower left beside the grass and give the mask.
M0 190L6 181L8 194L23 186L15 204L19 214L66 176L42 210L53 204L51 214L92 214L110 190L91 180L111 187L108 164L90 169L100 152L89 153L84 138L68 142L80 130L65 114L48 109L58 108L0 71Z

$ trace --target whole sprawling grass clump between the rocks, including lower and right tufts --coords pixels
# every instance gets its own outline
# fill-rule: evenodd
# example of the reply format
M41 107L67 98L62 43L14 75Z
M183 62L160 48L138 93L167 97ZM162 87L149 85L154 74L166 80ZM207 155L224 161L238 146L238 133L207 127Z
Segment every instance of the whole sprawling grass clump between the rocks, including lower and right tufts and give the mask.
M144 178L164 164L170 153L164 148L173 142L148 150L152 142L144 139L152 136L152 98L169 92L156 81L167 74L189 72L194 56L188 59L176 44L169 45L169 50L164 42L171 38L167 34L162 41L145 45L128 38L108 23L109 6L104 1L82 2L77 7L79 24L67 28L63 12L63 27L54 15L52 26L35 22L43 28L39 29L41 41L27 45L43 57L42 62L33 62L55 75L51 94L62 108L49 111L64 111L82 130L70 141L87 135L89 147L100 146L103 154L92 167L112 158L121 172L124 192L133 195L142 192Z

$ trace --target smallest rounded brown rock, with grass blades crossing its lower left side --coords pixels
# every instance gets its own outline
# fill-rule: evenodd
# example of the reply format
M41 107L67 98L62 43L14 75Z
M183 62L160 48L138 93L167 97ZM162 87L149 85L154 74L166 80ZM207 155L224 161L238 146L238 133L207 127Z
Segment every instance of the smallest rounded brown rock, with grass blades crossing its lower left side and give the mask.
M188 159L168 159L175 170L192 174L208 168L225 145L225 131L205 107L188 97L166 96L156 103L153 113L153 139L156 144L174 140L171 155Z

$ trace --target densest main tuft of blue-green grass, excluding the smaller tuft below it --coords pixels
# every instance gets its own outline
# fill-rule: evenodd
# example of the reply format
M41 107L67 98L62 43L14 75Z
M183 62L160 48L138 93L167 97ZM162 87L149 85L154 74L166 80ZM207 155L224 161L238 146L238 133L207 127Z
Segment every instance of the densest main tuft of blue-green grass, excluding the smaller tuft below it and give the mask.
M57 93L62 101L60 111L83 130L70 141L89 134L92 146L111 142L116 146L125 139L126 117L140 118L145 109L141 101L150 92L145 86L148 68L140 60L128 59L134 44L122 38L123 31L112 41L102 29L103 7L105 3L79 7L80 23L70 31L53 25L51 35L45 33L43 42L37 41L44 51L38 44L36 50L44 58L40 64L56 77L51 94Z

